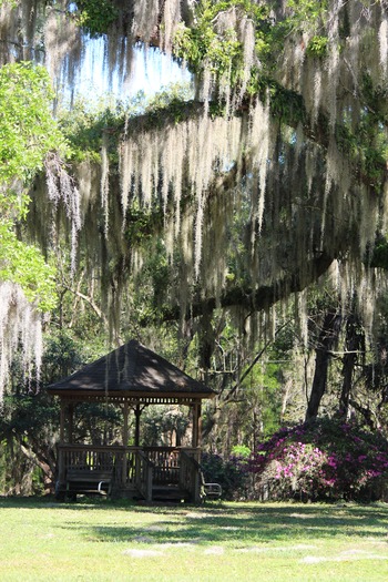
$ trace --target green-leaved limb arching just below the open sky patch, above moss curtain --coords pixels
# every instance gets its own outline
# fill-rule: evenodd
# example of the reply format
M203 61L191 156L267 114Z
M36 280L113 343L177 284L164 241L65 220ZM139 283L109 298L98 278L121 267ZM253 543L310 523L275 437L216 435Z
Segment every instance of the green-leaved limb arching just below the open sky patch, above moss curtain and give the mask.
M96 112L86 111L82 104L79 105L75 113L64 115L61 121L75 160L82 160L88 152L89 157L99 160L104 133L109 135L110 150L115 157L115 143L120 136L125 139L150 131L169 130L188 120L201 119L205 113L203 101L193 99L185 101L182 91L178 88L173 89L170 100L155 99L155 102L147 105L141 114L137 110L139 104L133 106L133 111L132 105L125 109L122 103L119 103L115 111L102 108ZM269 110L274 120L295 130L303 126L306 139L325 149L329 146L333 134L329 129L329 119L323 110L319 111L317 120L312 120L306 112L303 95L284 88L270 78L259 78L256 91L263 101L269 99ZM248 119L253 102L252 99L244 100L234 111L234 115ZM161 103L162 106L160 106ZM211 102L208 104L211 115L213 118L223 116L224 106L223 102ZM386 145L384 141L376 139L378 129L375 129L374 132L372 126L369 126L368 123L364 116L355 132L344 120L343 123L336 123L334 135L338 150L347 155L348 161L354 165L355 176L357 175L358 180L366 184L375 184L378 187L385 182L386 176L384 155ZM123 133L124 127L125 133ZM380 127L380 133L381 131ZM364 136L365 140L361 139Z

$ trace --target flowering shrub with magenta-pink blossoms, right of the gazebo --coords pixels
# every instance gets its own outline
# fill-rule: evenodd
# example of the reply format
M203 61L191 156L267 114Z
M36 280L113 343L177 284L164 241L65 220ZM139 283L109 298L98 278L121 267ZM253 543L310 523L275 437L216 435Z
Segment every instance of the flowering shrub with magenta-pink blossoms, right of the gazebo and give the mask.
M249 459L248 471L275 499L381 499L388 441L356 422L321 419L277 431Z

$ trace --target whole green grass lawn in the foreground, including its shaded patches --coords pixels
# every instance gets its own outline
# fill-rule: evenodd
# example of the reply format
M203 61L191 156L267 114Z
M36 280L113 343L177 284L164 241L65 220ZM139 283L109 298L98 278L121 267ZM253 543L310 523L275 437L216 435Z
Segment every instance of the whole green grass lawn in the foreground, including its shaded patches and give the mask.
M388 580L384 503L0 498L0 523L2 582Z

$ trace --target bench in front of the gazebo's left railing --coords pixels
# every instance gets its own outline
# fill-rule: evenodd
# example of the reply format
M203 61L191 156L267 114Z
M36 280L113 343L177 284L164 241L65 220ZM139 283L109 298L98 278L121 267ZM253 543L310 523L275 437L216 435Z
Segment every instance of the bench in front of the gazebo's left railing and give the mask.
M67 493L111 493L113 470L109 469L68 469Z

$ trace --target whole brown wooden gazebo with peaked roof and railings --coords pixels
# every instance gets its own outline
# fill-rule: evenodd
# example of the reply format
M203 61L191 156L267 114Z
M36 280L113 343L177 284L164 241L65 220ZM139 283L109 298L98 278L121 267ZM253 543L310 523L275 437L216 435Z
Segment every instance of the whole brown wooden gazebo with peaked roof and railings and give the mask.
M215 392L174 365L131 340L69 378L48 387L61 399L57 497L100 492L133 499L185 499L201 491L201 404ZM123 411L122 445L75 443L74 409L80 402L110 402ZM141 447L141 412L150 405L185 405L192 410L191 447ZM129 415L135 415L129 446Z

